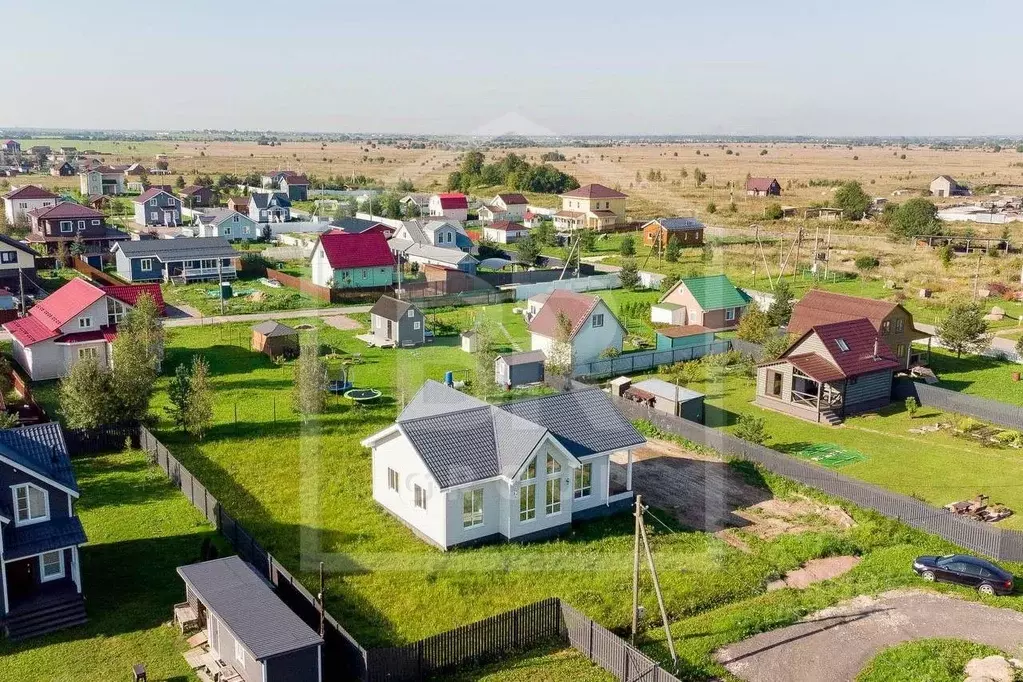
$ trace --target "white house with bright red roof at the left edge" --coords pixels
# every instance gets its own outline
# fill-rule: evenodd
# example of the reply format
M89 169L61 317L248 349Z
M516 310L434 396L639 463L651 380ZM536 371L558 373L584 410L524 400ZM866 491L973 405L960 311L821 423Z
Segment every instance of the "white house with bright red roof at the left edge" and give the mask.
M163 309L158 285L96 286L76 277L25 317L4 323L11 335L11 355L34 381L66 376L86 359L109 367L117 325L143 293Z

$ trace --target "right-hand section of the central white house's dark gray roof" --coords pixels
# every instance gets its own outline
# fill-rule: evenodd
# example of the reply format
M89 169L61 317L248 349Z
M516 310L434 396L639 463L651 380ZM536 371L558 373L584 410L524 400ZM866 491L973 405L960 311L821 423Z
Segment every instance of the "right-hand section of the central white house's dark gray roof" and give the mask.
M507 403L501 409L545 427L576 457L647 442L599 389Z

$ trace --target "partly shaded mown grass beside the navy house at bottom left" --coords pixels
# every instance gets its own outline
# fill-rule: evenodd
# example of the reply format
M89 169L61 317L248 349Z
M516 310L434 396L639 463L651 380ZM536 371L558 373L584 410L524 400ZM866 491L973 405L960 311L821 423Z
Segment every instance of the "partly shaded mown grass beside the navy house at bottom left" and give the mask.
M78 503L89 543L81 550L89 623L46 637L0 640L0 679L192 680L184 639L169 625L184 599L178 565L197 561L216 532L141 452L77 459ZM222 553L223 553L222 551Z

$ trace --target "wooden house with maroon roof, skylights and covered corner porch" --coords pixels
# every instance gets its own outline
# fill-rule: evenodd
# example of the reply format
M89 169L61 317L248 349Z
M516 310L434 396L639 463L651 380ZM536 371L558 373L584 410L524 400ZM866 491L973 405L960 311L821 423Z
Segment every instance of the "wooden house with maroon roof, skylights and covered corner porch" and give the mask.
M866 318L810 327L757 366L760 407L832 425L891 402L899 362Z

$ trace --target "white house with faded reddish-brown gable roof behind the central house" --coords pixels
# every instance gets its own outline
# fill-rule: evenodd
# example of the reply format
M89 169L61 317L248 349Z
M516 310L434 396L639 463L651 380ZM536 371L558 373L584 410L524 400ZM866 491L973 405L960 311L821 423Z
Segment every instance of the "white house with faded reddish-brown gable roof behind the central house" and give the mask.
M607 349L622 351L625 327L598 295L554 289L529 320L532 350L549 362L594 362Z

